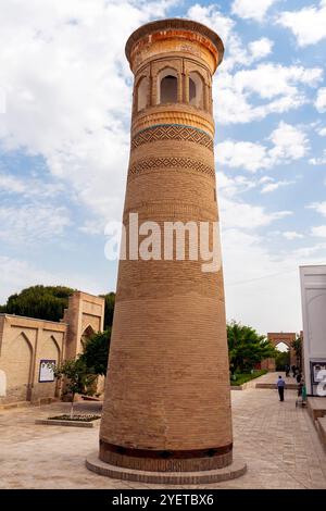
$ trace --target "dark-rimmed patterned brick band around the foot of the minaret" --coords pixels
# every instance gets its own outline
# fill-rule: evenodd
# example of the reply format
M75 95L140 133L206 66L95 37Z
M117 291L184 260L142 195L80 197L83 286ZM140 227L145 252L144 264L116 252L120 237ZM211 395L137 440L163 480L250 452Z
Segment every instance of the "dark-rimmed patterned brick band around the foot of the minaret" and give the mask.
M117 466L158 472L191 472L227 466L233 461L233 444L192 450L134 449L100 440L100 459Z

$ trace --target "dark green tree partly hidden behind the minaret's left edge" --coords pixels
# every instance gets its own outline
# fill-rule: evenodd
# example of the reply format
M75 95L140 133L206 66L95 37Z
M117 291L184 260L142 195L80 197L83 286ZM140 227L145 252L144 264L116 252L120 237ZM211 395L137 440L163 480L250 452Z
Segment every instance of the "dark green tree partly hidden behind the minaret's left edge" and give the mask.
M111 328L104 332L98 332L90 336L80 354L80 360L85 362L88 371L97 374L106 374L109 350L110 350Z

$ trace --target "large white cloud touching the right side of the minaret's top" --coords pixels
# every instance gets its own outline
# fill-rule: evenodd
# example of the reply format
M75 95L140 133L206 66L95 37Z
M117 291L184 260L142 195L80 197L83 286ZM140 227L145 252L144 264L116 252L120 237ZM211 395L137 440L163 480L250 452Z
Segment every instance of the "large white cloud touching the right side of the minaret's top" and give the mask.
M256 5L261 4L249 3L252 9L259 9ZM323 78L321 67L275 63L261 63L255 68L242 68L231 74L235 66L247 67L267 57L273 41L262 37L244 45L235 32L235 22L221 13L215 4L196 4L188 10L187 17L212 27L225 43L224 61L213 83L215 114L222 124L248 123L272 113L297 109L309 101L305 88L316 87Z

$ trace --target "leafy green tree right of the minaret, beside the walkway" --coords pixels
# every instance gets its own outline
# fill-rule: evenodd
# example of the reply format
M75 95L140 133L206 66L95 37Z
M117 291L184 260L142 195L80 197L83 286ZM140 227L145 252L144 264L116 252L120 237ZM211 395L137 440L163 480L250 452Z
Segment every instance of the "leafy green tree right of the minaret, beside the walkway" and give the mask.
M227 324L230 372L249 372L258 362L276 357L274 346L251 326L236 321Z

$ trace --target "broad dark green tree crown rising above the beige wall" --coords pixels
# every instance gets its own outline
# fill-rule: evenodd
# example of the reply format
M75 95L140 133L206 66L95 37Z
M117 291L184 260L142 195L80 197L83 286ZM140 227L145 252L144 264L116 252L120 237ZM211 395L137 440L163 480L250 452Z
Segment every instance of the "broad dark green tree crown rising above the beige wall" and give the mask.
M4 306L8 314L59 321L74 289L64 286L32 286L9 297Z

